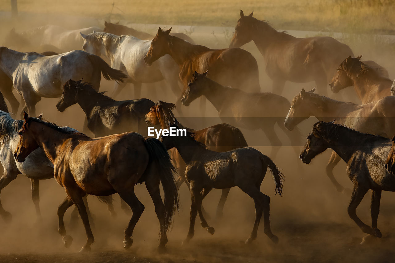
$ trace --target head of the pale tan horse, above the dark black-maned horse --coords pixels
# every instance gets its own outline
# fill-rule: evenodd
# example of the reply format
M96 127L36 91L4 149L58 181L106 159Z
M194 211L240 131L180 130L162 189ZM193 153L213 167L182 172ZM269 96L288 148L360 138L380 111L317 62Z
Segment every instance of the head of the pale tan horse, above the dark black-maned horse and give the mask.
M302 91L293 97L290 110L285 118L285 128L292 131L297 124L311 116L311 109L306 102L312 95L316 95L314 94L314 90L316 90L316 88L310 91L305 91L305 89L302 88Z

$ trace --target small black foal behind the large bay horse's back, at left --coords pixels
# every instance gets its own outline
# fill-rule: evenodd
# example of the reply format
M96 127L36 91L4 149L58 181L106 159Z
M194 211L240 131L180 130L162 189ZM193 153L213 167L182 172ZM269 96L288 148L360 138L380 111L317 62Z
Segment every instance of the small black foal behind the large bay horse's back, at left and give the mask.
M149 99L115 101L96 91L89 83L69 80L63 86L56 108L63 112L78 103L87 115L88 128L95 137L127 131L147 133L144 116L155 103Z

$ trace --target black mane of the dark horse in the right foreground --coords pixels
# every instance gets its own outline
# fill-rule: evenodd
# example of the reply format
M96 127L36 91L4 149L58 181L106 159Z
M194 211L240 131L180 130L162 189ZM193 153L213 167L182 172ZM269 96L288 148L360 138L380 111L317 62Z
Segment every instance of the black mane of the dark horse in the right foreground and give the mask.
M335 123L327 123L327 122L316 122L313 125L312 133L314 136L324 139L325 141L329 141L331 139L335 139L336 141L340 141L341 139L345 139L341 134L351 133L352 136L347 137L347 141L353 140L358 143L363 143L366 141L377 141L377 140L385 140L389 139L386 137L382 137L380 135L375 135L371 133L363 133L352 128L345 126L344 124L335 124Z

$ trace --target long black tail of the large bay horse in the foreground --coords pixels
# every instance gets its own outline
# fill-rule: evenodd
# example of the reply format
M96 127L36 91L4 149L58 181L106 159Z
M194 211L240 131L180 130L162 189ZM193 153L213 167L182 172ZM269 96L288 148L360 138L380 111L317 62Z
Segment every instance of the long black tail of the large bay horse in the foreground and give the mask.
M169 153L164 145L155 138L146 137L144 139L145 148L150 156L150 163L156 165L156 172L159 174L164 192L165 222L164 227L167 231L173 222L175 210L179 211L178 188L174 179L175 167L171 163Z

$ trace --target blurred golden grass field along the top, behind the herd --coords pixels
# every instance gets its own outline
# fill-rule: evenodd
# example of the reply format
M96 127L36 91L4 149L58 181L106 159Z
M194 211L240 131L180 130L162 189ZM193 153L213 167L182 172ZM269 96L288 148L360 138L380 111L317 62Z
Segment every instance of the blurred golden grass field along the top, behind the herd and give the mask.
M114 2L114 7L112 6ZM239 9L288 30L395 32L395 0L18 0L22 13L73 14L132 23L235 26ZM0 12L10 11L0 0Z

